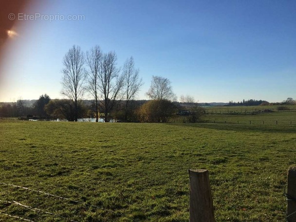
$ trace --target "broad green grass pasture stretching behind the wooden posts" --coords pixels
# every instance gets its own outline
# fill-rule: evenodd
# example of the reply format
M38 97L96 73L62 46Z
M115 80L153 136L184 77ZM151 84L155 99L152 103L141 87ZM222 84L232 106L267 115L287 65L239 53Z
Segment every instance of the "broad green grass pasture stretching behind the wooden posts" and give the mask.
M296 120L295 114L266 113L261 118ZM187 169L206 168L217 222L284 221L282 194L287 169L296 161L296 125L214 124L206 118L222 120L222 115L209 116L209 123L200 124L2 120L0 183L104 209L0 185L0 212L35 222L187 222ZM237 115L233 121L249 121L247 117ZM230 122L234 117L225 118ZM0 214L0 221L18 219Z

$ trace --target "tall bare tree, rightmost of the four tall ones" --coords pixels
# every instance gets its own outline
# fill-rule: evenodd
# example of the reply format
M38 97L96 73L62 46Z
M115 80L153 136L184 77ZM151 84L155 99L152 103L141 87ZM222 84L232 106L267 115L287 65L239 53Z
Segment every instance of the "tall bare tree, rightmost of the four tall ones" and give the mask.
M139 92L143 85L139 77L139 69L135 68L134 59L130 56L123 65L124 90L125 90L125 120L127 120L129 101Z

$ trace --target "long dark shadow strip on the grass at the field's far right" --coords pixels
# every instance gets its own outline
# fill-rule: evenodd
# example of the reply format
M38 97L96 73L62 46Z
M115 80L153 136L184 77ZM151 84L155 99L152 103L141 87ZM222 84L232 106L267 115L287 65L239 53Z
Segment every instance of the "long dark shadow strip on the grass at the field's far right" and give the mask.
M252 131L252 132L271 132L271 133L296 133L296 126L280 125L246 125L246 124L227 124L227 123L179 123L183 127L217 129L217 130L234 130L234 131Z

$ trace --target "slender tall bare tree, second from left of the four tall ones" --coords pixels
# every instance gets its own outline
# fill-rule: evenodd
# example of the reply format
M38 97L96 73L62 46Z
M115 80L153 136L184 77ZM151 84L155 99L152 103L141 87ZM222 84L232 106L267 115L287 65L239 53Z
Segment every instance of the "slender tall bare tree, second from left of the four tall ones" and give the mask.
M98 45L94 46L90 51L86 53L86 62L89 67L89 72L87 73L87 83L88 91L92 94L95 102L95 121L98 122L99 119L99 95L98 95L98 81L99 74L101 72L102 65L102 52Z

